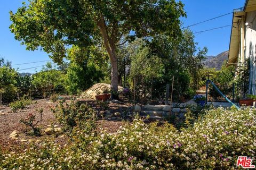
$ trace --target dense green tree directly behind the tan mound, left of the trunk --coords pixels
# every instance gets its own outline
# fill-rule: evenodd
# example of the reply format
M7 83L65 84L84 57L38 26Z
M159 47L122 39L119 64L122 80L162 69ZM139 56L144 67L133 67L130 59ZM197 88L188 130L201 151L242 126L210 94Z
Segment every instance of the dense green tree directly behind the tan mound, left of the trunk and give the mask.
M65 88L69 94L84 91L103 78L101 67L106 64L106 55L94 46L90 49L74 46L68 58L71 62L65 76Z

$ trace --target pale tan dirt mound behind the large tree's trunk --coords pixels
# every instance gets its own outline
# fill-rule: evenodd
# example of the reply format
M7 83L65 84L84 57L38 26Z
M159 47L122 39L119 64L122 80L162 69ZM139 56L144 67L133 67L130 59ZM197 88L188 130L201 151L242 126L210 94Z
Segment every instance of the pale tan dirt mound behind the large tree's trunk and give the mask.
M95 100L96 95L103 94L104 91L110 91L110 84L106 83L97 83L94 84L92 87L84 91L81 95L84 99L93 99ZM118 86L118 92L123 92L124 88L121 86Z

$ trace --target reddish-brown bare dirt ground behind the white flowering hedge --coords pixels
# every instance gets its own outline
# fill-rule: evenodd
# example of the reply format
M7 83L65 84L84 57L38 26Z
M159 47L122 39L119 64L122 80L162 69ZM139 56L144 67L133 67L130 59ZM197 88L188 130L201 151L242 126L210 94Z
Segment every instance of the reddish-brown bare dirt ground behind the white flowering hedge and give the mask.
M85 100L86 102L86 100ZM5 150L19 150L27 147L29 143L39 143L47 138L54 138L55 142L65 143L67 141L67 137L65 135L59 135L59 137L53 137L53 135L49 136L45 134L44 130L47 125L51 125L55 122L55 116L51 111L51 107L54 107L57 103L53 103L49 99L38 99L33 100L32 104L29 105L26 109L21 111L17 111L13 113L9 106L0 107L0 149L2 151ZM93 103L91 103L93 105ZM115 106L113 106L115 108ZM40 114L36 111L36 109L43 108L43 116L42 121L38 123L39 128L41 128L42 136L34 137L28 135L27 132L29 128L20 123L22 118L26 118L29 113L36 114L36 120L40 119ZM109 133L115 133L118 128L123 124L123 122L118 121L97 121L99 128L107 130ZM58 125L58 124L57 124ZM14 131L19 131L19 137L17 140L11 139L9 135Z

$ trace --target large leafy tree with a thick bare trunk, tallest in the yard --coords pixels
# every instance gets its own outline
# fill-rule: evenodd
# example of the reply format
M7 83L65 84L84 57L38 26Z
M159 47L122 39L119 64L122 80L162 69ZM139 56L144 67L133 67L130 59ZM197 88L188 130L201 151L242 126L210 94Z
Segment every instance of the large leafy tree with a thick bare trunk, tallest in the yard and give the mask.
M183 4L175 0L30 0L11 14L11 31L28 50L38 47L61 62L70 45L103 44L111 62L111 89L117 91L116 47L121 37L180 35ZM113 98L117 96L112 96Z

